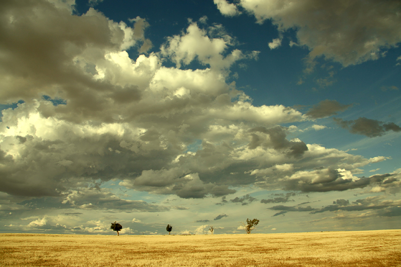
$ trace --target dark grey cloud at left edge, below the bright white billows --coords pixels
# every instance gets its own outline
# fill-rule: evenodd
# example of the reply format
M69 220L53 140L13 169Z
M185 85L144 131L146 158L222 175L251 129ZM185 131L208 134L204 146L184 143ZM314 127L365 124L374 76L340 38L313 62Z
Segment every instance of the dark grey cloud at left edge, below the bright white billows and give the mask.
M122 175L127 177L126 173L133 175L142 170L161 168L177 153L171 148L169 152L162 150L138 155L124 146L124 137L114 134L102 134L95 140L74 136L68 127L61 127L55 134L58 134L57 140L27 135L26 141L21 143L21 136L9 138L9 142L21 146L23 157L13 158L0 149L0 162L4 164L1 191L19 196L60 196L92 179L105 181ZM134 141L131 139L131 142ZM152 146L151 142L147 143ZM145 146L142 147L145 149ZM224 188L214 190L219 194Z

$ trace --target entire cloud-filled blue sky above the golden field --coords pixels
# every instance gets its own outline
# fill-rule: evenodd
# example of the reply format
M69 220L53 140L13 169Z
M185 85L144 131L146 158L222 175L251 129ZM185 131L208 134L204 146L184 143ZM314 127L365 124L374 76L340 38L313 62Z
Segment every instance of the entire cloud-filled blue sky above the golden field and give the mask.
M401 2L3 0L0 232L401 225Z

